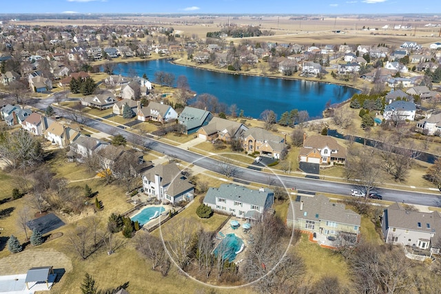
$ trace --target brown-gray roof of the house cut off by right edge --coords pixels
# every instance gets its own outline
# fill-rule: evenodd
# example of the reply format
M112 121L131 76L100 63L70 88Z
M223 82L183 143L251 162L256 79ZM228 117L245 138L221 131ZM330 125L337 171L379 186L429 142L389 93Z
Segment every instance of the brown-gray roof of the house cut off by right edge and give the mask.
M441 232L441 215L438 211L422 213L405 210L395 203L384 209L387 228L403 228L413 231Z

